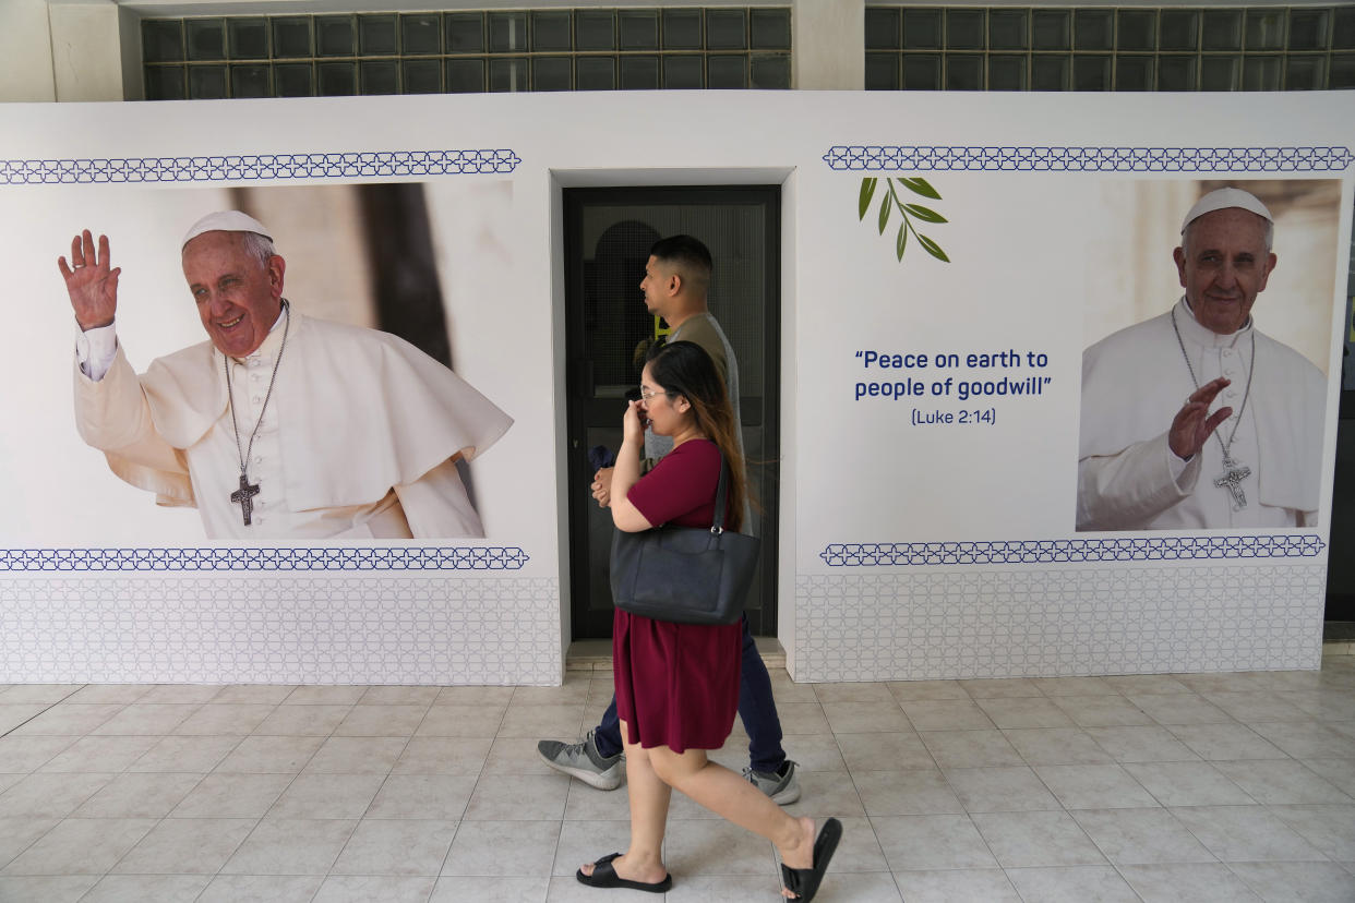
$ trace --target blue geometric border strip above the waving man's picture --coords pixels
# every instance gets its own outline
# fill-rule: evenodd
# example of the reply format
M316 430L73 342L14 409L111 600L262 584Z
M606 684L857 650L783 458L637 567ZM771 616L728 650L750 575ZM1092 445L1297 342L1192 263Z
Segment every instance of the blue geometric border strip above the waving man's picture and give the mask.
M137 181L249 181L259 179L364 179L512 172L515 152L371 150L123 160L0 160L0 184L58 185Z

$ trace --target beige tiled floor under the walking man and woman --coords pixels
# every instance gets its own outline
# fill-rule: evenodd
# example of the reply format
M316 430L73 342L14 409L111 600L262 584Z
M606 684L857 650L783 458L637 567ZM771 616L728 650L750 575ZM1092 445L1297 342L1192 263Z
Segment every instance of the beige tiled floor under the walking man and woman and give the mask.
M0 686L0 900L607 900L625 792L549 772L561 688ZM1355 900L1355 657L1321 671L797 685L820 900ZM715 758L740 768L740 728ZM775 900L768 843L675 797L683 900Z

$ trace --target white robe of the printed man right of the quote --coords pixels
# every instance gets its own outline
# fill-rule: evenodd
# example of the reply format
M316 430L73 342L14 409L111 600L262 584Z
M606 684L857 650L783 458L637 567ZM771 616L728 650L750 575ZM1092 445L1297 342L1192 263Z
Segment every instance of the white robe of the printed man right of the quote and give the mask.
M1293 348L1262 334L1248 318L1230 336L1195 321L1182 298L1172 314L1122 329L1083 352L1077 529L1313 527L1317 523L1327 379ZM1255 368L1245 410L1247 380ZM1199 384L1228 376L1211 410L1233 409L1190 462L1172 454L1167 431ZM1241 418L1238 421L1238 417ZM1236 428L1236 437L1233 431ZM1220 440L1251 468L1234 510Z

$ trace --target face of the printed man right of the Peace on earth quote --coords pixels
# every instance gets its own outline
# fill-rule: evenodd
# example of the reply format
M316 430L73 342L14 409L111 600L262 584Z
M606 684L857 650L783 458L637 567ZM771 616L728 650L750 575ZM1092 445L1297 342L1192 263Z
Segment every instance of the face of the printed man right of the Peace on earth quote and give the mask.
M1240 207L1194 219L1176 249L1176 271L1195 320L1228 336L1247 324L1256 295L1275 268L1266 248L1267 222Z

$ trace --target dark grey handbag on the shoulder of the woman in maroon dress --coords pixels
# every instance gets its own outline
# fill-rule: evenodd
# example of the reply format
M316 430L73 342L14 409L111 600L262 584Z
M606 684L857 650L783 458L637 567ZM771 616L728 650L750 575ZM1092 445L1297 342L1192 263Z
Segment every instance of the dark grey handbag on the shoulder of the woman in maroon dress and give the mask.
M661 524L611 540L611 598L623 612L676 624L733 624L744 613L762 540L725 529L729 467L720 459L715 523Z

